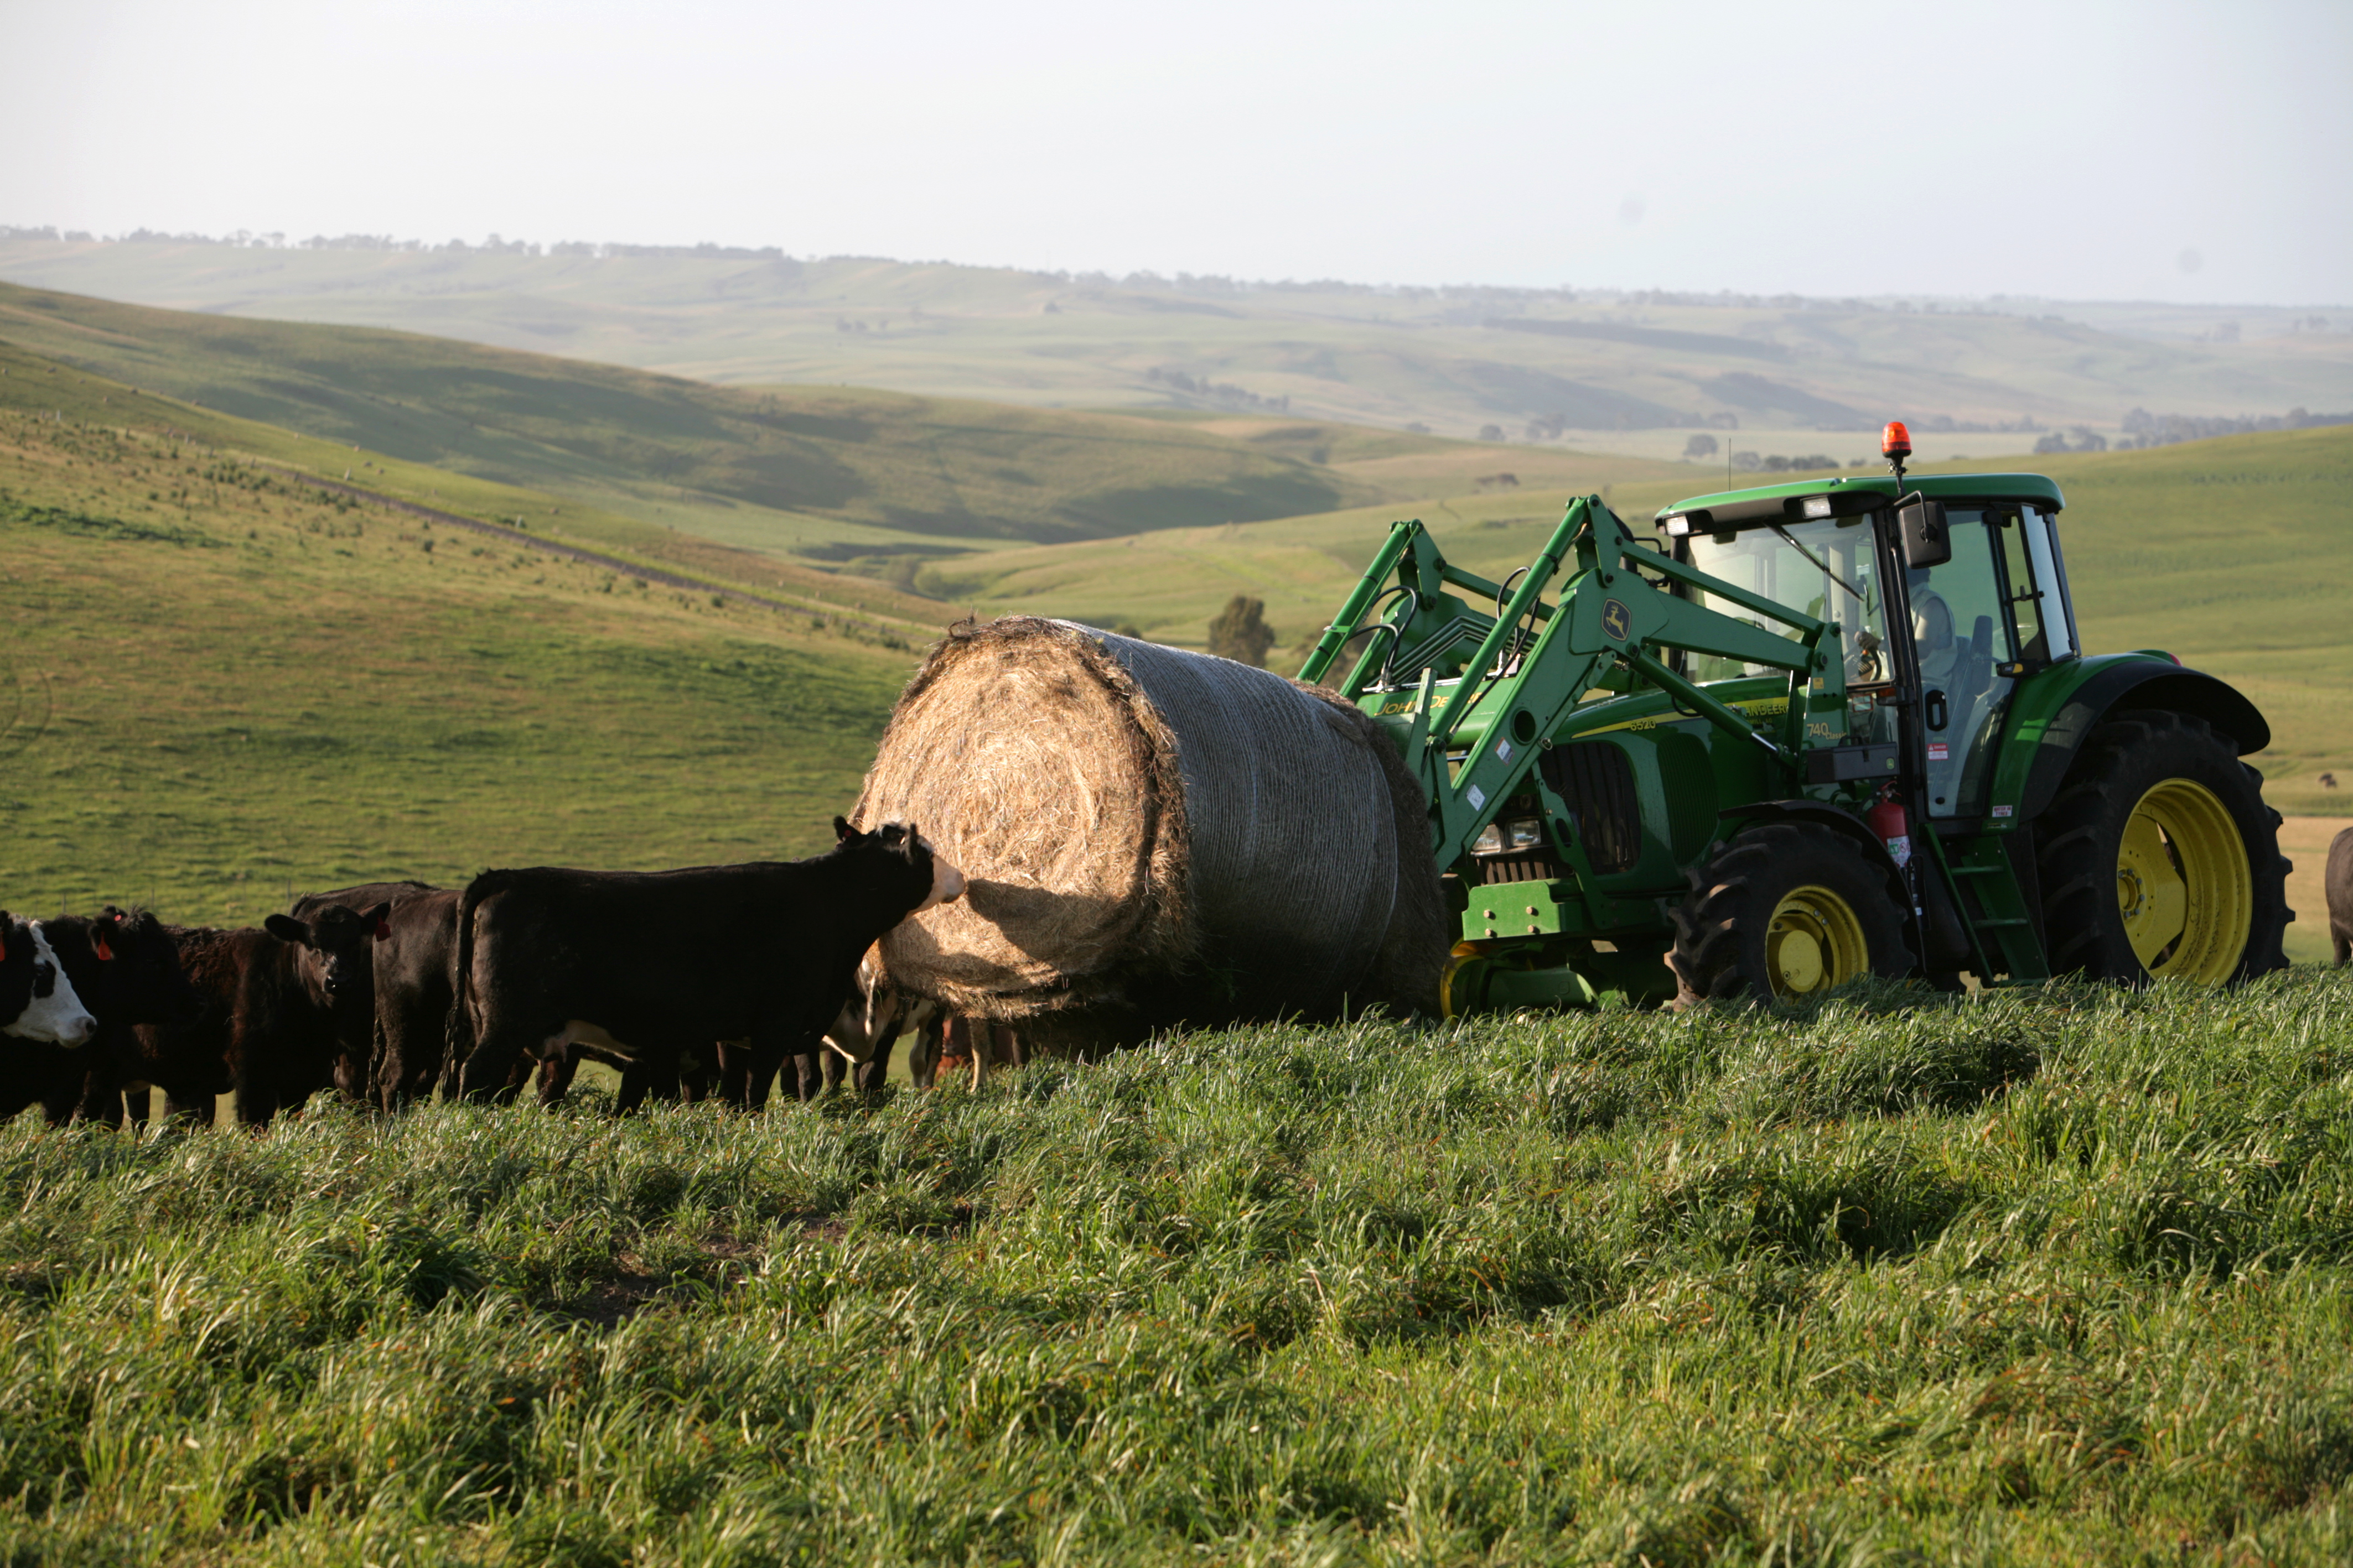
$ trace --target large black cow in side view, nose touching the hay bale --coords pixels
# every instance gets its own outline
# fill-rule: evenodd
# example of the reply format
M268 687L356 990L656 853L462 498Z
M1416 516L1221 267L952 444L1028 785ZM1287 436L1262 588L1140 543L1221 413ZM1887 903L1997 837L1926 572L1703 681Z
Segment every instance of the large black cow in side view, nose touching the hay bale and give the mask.
M449 1009L449 1048L475 1041L464 1093L487 1100L525 1056L567 1041L654 1060L741 1039L720 1051L720 1072L729 1098L758 1110L786 1058L819 1056L859 954L965 891L911 825L856 832L833 818L833 832L809 860L475 877L456 912ZM816 1077L809 1060L802 1095Z

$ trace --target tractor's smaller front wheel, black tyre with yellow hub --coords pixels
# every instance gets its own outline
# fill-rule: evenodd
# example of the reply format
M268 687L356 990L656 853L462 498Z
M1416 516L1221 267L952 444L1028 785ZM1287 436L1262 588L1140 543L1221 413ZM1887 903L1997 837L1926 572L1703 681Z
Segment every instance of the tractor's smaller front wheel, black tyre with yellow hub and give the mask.
M1668 966L1675 1006L1704 999L1798 1001L1864 976L1913 971L1894 867L1814 823L1734 835L1687 872Z

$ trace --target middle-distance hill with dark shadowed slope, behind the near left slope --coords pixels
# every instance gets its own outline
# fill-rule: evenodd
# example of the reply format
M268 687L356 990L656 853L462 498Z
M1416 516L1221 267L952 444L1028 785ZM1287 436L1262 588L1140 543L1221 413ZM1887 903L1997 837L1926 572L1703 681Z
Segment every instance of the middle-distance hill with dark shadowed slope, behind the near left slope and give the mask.
M7 284L0 339L141 390L774 552L1085 538L1388 494L1188 423L852 388L720 388ZM1381 456L1440 449L1388 442L1398 451Z

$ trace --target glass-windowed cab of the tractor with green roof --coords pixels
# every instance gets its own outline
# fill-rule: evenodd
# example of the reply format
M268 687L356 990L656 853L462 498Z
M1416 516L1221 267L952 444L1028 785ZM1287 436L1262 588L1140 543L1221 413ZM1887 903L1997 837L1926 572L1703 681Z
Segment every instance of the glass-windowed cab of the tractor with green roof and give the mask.
M1929 818L1991 809L1991 757L2014 684L2075 656L2075 621L2040 475L1833 477L1678 501L1659 512L1675 559L1840 628L1845 741L1897 745ZM1906 517L1937 541L1906 541ZM1706 590L1694 602L1755 616ZM1689 679L1767 675L1689 658Z

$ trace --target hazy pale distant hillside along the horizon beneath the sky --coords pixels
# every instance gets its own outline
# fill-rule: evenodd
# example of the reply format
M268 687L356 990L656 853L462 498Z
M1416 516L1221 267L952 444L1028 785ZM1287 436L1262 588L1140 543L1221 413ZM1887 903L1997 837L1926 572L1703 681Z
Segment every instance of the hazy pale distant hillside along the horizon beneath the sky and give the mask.
M1374 261L1367 261L1372 270ZM400 327L718 383L868 386L1031 407L1158 407L1494 428L1675 456L1929 456L2040 430L2353 409L2353 320L2049 301L1821 301L1598 289L1372 289L1101 277L645 247L249 249L0 237L0 277L233 317ZM1795 444L1814 435L1814 444Z

